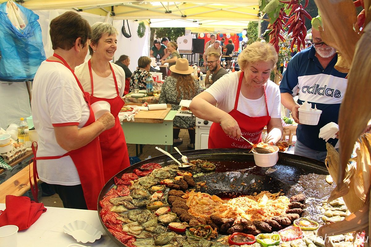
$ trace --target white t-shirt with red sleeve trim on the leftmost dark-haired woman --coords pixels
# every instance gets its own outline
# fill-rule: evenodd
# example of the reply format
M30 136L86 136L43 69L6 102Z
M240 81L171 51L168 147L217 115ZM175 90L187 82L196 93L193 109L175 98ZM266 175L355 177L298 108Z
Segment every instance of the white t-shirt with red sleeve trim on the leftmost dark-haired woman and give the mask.
M54 126L76 125L82 128L90 116L75 77L63 64L43 61L36 72L32 89L32 117L39 134L37 156L61 156L67 153L56 141ZM49 184L81 184L70 156L37 160L40 180Z

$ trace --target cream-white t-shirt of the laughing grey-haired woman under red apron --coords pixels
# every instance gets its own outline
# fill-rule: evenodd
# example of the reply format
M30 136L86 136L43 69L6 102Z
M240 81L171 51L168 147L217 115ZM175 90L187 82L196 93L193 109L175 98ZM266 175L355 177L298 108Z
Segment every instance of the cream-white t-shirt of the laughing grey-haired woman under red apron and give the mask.
M114 63L111 63L111 65L115 71L119 95L120 97L122 97L124 94L124 89L125 89L124 69L122 69L120 66ZM91 87L91 81L90 81L88 61L85 61L85 63L76 67L75 74L77 78L80 80L80 83L84 91L91 94L92 87ZM114 77L112 73L108 77L100 77L92 69L92 75L93 75L93 84L94 84L94 92L93 92L94 95L93 96L98 97L98 98L104 98L104 99L113 99L117 96L115 81L114 81Z

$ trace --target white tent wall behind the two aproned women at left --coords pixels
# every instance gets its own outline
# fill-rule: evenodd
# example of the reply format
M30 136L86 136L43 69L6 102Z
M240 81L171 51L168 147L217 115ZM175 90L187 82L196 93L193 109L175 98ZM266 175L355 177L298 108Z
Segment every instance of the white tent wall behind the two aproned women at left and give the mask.
M60 14L69 10L37 10L34 11L39 15L39 23L42 30L43 45L45 49L46 57L53 54L52 43L49 36L49 24L50 21L59 16ZM97 21L104 22L106 17L99 16L96 14L77 12L81 14L89 24L94 24ZM112 17L109 18L108 22L112 23ZM137 60L140 56L148 56L148 40L150 37L150 31L148 23L146 24L145 36L139 38L137 35L138 21L129 20L130 31L132 37L127 39L121 33L122 20L114 21L114 26L118 30L119 34L117 36L117 51L115 53L114 60L117 60L119 56L126 54L131 57L132 62L129 66L131 71L134 71L137 67ZM126 27L126 21L125 21ZM88 59L89 56L87 56ZM17 121L20 117L29 117L31 113L31 107L29 102L29 95L27 92L26 83L2 83L0 81L0 106L2 109L0 115L0 127L6 128L10 123Z

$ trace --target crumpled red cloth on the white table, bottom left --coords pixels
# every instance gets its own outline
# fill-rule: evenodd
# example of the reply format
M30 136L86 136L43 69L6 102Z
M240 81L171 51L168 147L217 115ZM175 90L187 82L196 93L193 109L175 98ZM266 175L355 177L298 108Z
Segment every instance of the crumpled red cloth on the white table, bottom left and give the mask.
M6 209L0 211L0 227L16 225L19 227L19 231L29 228L42 213L46 212L43 203L31 201L26 196L7 195L5 205Z

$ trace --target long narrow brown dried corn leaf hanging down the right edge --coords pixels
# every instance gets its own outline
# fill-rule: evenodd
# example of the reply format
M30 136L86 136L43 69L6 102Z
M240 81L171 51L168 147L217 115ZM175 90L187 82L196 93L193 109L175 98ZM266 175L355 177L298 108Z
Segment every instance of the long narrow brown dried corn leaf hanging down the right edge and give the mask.
M340 171L337 183L344 177L345 167L351 156L354 143L371 118L371 104L357 103L356 99L368 99L371 95L371 24L368 23L364 34L357 43L356 52L348 76L348 86L339 112L340 129ZM361 69L361 70L360 70ZM356 121L349 121L353 119Z

